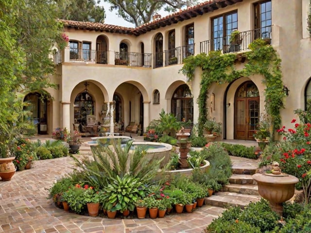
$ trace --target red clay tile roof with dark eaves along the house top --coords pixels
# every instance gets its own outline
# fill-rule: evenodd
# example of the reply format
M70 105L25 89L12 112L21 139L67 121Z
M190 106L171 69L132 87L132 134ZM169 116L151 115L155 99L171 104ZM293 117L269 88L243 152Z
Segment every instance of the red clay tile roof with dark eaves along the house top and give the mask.
M219 8L226 7L227 5L232 5L243 0L209 0L202 3L199 3L195 6L188 7L185 10L179 10L166 17L155 19L151 22L145 23L138 26L137 28L127 28L117 25L105 24L105 23L95 23L95 22L81 22L81 21L72 21L72 20L63 20L65 27L75 28L78 30L95 30L107 33L124 33L124 34L134 34L140 35L151 30L158 29L160 27L165 27L173 23L178 23L199 15L206 14L218 10Z

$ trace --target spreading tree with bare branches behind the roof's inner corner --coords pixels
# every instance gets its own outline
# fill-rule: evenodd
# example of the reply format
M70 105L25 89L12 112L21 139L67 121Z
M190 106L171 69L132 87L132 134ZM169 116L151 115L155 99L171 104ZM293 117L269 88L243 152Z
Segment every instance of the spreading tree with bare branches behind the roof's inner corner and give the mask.
M197 0L104 0L111 4L110 10L117 10L124 20L134 23L136 27L147 23L151 16L161 9L167 12L183 6L194 5Z

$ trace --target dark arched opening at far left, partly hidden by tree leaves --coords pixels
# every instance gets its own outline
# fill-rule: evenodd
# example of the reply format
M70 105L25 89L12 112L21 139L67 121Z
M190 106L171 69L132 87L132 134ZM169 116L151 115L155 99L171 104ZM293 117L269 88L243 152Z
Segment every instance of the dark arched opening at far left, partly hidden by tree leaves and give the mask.
M28 102L27 110L31 112L31 120L33 120L38 134L47 134L48 111L46 98L35 92L25 96L24 102Z

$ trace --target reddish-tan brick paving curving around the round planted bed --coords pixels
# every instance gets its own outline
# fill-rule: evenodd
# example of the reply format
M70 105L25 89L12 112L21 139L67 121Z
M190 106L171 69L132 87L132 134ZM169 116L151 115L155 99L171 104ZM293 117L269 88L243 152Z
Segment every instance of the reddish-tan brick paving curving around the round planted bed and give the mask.
M87 148L82 154L88 154ZM203 205L190 214L173 213L155 219L131 215L108 219L65 212L48 199L48 189L73 167L70 157L35 161L32 169L18 171L11 181L0 182L0 233L201 233L224 211Z

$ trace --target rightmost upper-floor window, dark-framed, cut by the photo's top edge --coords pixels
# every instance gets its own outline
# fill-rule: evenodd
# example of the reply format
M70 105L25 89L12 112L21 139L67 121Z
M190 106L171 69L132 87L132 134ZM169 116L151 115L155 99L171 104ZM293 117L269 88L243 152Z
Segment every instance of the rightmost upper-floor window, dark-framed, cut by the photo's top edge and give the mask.
M271 38L272 7L271 0L255 5L255 39ZM257 30L256 30L257 29Z

